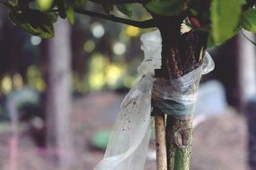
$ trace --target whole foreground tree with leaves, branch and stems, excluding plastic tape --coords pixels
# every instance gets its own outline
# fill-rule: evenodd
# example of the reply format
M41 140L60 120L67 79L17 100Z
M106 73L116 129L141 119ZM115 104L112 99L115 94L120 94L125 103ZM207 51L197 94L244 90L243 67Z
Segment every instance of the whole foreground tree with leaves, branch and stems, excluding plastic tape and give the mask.
M14 3L4 1L3 4L10 9L10 18L15 24L42 38L54 36L52 24L57 16L67 18L74 23L75 13L142 29L155 27L160 30L163 42L162 67L155 71L154 76L164 81L181 78L199 68L203 63L207 47L225 42L242 28L256 31L254 0L90 1L102 5L106 14L86 10L85 0L51 0L46 9L31 8L29 4L34 3L34 0L18 0ZM152 19L128 20L111 13L116 8L121 13L131 16L134 4L140 4L145 8ZM166 85L163 84L164 86ZM159 106L163 103L167 107ZM153 98L152 106L156 129L157 168L159 170L190 169L193 108L164 98ZM168 106L176 108L176 111L185 110L186 114L172 113ZM166 121L164 115L167 115Z

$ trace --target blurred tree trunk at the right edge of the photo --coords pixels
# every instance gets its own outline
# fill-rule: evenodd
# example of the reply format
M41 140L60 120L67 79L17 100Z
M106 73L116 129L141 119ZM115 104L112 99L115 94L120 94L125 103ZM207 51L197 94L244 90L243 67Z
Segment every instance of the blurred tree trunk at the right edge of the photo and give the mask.
M252 41L255 37L245 30ZM251 170L256 169L256 60L255 46L243 35L239 35L239 82L242 91L242 106L248 126L248 162Z

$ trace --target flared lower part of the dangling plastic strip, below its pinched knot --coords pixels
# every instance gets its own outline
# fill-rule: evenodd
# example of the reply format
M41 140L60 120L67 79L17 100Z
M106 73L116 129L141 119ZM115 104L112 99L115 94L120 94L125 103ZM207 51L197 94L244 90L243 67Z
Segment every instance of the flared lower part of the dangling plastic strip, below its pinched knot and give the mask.
M144 76L120 106L109 144L94 170L142 170L150 139L151 91L154 79Z

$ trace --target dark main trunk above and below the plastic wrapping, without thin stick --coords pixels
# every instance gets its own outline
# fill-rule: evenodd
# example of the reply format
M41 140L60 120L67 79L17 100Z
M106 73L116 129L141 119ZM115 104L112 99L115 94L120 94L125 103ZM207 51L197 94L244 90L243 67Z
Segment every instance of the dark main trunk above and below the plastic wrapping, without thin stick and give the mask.
M184 19L185 17L182 16L154 16L154 21L163 39L162 68L155 72L156 78L163 78L169 81L180 78L198 68L203 62L203 54L207 46L207 34L194 30L181 35L181 23ZM168 170L190 169L193 109L189 110L189 112L189 115L163 113L167 115Z

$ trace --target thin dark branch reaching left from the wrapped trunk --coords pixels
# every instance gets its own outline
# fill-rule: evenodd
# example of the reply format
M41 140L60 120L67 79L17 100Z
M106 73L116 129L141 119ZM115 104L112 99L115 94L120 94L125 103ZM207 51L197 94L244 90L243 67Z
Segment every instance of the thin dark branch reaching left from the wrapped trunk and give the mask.
M141 29L149 29L149 28L155 27L155 24L154 24L153 20L132 21L132 20L116 17L112 14L94 13L94 12L79 9L79 8L75 8L75 13L89 15L89 16L96 17L96 18L101 18L101 19L104 19L104 20L124 23L124 24L127 24L127 25L131 25L131 26L134 26L134 27L141 28Z

